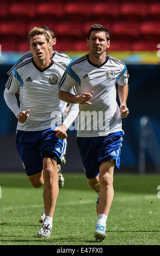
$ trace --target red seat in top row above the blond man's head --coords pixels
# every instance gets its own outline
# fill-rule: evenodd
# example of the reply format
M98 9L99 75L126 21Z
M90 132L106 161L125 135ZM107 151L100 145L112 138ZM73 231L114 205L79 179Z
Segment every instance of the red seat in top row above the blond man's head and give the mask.
M40 4L37 4L36 6L36 14L37 15L45 15L45 16L63 16L64 7L62 3L59 2L43 2Z

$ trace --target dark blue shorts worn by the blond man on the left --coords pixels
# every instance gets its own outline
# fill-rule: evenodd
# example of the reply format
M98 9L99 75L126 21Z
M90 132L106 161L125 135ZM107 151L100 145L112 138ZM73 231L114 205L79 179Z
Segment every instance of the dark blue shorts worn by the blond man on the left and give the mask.
M17 130L16 147L21 156L26 174L33 175L42 171L44 151L49 152L48 155L54 153L53 155L57 157L57 164L61 163L61 158L65 151L65 140L58 139L56 132L52 129L43 131Z

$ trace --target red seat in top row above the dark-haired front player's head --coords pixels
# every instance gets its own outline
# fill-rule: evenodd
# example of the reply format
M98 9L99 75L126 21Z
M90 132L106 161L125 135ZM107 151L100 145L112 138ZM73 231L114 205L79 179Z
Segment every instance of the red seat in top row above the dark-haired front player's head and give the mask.
M119 16L118 2L95 2L91 4L92 14L96 16L113 17L114 19Z

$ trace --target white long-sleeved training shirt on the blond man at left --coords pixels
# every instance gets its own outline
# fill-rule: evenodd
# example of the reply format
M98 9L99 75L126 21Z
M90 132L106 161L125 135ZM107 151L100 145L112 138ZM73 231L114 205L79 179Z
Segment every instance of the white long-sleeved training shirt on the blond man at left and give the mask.
M13 69L5 85L4 99L16 117L21 111L30 111L29 118L24 124L18 122L17 130L40 131L62 123L58 84L64 70L63 66L53 60L47 68L41 70L33 58ZM15 93L18 89L20 108L15 105ZM67 105L66 102L64 104ZM77 114L78 104L72 104L63 123L69 127Z

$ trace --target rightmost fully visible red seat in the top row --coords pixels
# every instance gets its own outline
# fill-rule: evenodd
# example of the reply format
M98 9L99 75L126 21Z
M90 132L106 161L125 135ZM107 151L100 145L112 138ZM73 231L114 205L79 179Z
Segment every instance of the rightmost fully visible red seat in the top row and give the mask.
M121 5L120 13L128 19L147 16L147 4L145 2L126 2Z

